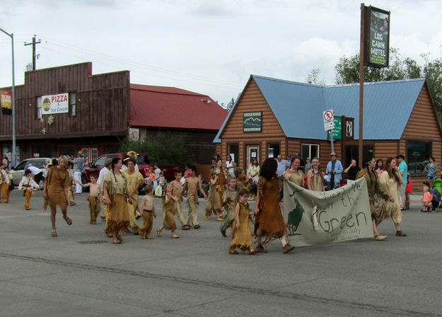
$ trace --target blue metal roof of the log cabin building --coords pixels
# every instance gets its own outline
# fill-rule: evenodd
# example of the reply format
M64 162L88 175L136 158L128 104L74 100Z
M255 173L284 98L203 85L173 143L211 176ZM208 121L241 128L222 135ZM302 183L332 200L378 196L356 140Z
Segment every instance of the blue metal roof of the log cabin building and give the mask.
M336 116L354 117L354 138L359 138L359 83L317 86L256 75L252 78L287 137L326 139L322 111L333 109ZM364 139L400 139L424 82L364 83Z

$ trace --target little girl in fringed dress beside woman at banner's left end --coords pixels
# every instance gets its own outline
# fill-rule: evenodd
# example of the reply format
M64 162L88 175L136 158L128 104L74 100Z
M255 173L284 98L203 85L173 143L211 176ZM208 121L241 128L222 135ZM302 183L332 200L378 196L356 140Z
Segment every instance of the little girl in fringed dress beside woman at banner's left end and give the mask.
M239 191L239 201L235 206L235 220L233 221L232 227L232 243L228 248L229 254L238 254L240 250L248 250L249 254L255 254L258 251L253 250L252 244L252 232L250 230L249 215L253 214L250 212L249 204L247 202L249 197L249 192L245 188Z

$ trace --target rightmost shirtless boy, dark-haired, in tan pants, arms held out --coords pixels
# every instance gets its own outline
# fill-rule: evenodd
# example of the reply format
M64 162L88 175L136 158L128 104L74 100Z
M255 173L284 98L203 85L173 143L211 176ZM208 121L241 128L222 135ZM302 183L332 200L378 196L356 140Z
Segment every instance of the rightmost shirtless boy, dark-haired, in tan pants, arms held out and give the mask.
M195 166L190 166L189 168L189 177L186 179L184 185L182 186L181 195L184 195L187 191L187 205L189 206L189 212L187 214L186 224L190 226L190 222L192 221L193 228L199 229L201 226L198 224L198 215L197 215L197 202L198 195L197 190L202 192L204 195L204 199L207 200L206 192L201 185L201 179L195 175L197 173L197 168Z

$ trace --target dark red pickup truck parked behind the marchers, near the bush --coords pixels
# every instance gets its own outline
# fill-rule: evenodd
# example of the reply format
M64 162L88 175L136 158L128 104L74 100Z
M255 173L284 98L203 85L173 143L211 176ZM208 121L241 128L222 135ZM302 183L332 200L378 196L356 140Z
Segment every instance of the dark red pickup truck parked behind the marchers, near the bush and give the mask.
M84 175L86 175L86 179L88 180L88 182L90 182L92 174L98 175L101 168L105 166L105 162L107 159L113 159L115 157L123 159L124 156L125 153L109 153L98 156L98 158L93 163L84 168ZM138 154L138 156L136 156L136 164L138 165L138 170L141 175L143 175L143 178L146 178L146 175L149 173L149 168L151 168L151 164L149 163L149 156L147 156L146 154ZM168 181L174 180L175 171L180 170L180 167L178 165L158 165L158 168L163 171L164 177Z

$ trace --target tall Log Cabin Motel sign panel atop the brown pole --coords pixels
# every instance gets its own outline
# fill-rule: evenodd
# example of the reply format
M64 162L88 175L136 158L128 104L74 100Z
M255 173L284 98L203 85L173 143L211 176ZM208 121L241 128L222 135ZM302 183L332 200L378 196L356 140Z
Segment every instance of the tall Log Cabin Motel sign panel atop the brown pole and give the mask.
M365 8L365 58L371 67L388 67L390 52L390 12L368 6Z

